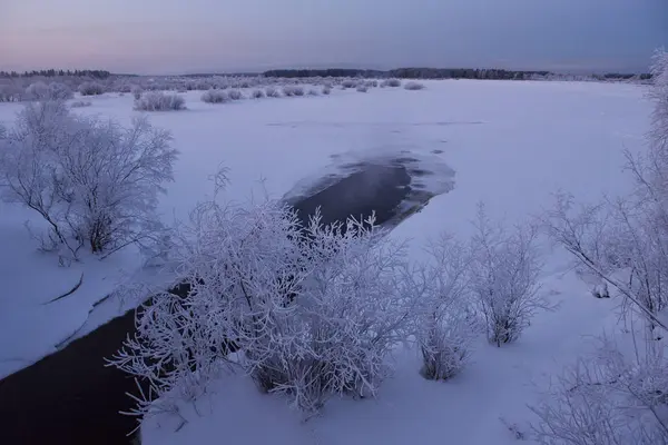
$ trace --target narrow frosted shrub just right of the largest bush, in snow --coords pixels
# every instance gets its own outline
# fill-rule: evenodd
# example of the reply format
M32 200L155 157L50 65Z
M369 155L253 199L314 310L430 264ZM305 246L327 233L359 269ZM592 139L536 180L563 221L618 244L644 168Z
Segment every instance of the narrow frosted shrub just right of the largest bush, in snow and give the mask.
M469 309L471 256L465 245L448 235L430 246L430 254L432 265L418 317L418 342L422 375L445 380L465 366L475 338L474 314Z

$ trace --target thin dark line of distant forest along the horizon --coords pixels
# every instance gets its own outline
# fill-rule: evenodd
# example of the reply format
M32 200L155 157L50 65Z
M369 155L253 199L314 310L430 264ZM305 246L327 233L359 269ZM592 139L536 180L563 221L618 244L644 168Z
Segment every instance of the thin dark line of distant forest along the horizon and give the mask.
M105 70L33 70L33 71L0 71L0 78L29 78L29 77L89 77L95 79L107 79L110 76L130 77L136 75L112 75ZM185 75L183 77L212 77L212 76L264 76L274 78L307 78L307 77L360 77L360 78L403 78L403 79L502 79L502 80L529 80L536 77L559 76L550 71L515 71L504 69L472 69L472 68L397 68L392 70L366 70L366 69L283 69L269 70L263 73L230 73L230 75ZM181 77L181 76L178 76ZM626 80L637 78L648 80L649 73L619 73L609 72L605 75L591 75L600 80Z

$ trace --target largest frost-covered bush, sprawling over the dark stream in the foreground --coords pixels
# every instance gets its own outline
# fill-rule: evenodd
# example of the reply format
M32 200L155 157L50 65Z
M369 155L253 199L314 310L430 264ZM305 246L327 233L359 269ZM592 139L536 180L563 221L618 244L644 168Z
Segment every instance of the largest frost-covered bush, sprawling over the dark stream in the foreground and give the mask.
M421 295L403 247L373 221L341 229L318 217L302 227L275 201L198 205L175 254L189 291L147 306L114 362L156 396L198 394L234 342L237 366L305 413L333 395L375 394Z

